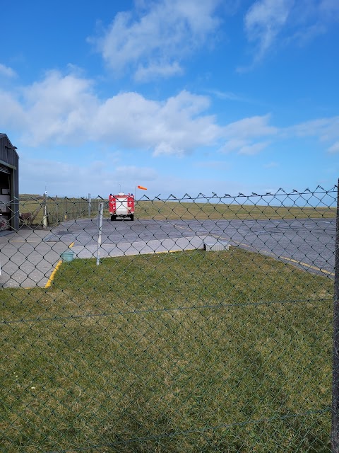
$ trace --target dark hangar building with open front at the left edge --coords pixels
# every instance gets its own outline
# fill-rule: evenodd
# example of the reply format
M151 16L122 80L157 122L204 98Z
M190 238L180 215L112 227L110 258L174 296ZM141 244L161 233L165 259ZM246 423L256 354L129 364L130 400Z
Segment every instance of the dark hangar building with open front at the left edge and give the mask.
M19 227L19 156L0 132L0 231Z

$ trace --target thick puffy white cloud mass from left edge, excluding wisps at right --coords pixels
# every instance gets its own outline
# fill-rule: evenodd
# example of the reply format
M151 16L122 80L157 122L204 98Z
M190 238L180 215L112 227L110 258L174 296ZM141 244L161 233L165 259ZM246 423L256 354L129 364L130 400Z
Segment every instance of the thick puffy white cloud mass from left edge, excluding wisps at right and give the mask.
M180 155L210 146L222 135L215 117L205 114L209 99L188 91L162 102L133 92L102 101L93 93L92 81L51 71L23 88L20 100L0 92L0 101L6 105L0 110L1 124L15 121L22 141L32 147L98 141Z

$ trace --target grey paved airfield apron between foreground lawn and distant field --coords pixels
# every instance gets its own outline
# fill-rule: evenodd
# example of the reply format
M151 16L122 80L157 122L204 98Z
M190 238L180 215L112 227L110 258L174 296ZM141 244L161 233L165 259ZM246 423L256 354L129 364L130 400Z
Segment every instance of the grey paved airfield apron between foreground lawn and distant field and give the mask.
M97 219L68 221L54 229L4 232L0 236L0 285L46 286L61 254L69 248L75 258L105 258L204 248L211 239L220 248L231 244L334 276L335 219L104 219L100 248L98 238Z

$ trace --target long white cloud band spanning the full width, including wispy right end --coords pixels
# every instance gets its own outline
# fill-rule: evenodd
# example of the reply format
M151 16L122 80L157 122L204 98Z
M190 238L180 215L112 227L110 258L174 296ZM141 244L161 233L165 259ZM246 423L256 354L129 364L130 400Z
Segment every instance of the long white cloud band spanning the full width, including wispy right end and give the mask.
M181 91L153 101L129 92L102 100L93 91L93 81L57 71L22 88L21 97L0 91L0 103L6 106L0 110L2 127L15 125L21 131L20 143L30 147L96 142L114 149L150 151L153 156L184 156L204 147L253 155L277 137L316 137L329 152L336 152L339 140L339 117L285 129L271 125L270 115L220 125L206 113L207 96Z

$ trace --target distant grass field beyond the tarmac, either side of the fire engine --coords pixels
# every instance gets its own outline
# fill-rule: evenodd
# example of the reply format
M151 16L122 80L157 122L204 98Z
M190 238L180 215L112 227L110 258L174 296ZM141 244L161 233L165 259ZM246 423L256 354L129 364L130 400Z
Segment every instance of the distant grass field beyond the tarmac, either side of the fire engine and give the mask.
M32 199L25 195L20 200L20 212L37 212L33 224L42 224L44 214L42 197ZM99 203L105 202L104 216L109 217L107 200L92 200L90 217L96 217ZM305 219L305 218L334 218L333 207L297 207L297 206L270 206L270 205L239 205L238 203L225 204L173 202L157 200L138 200L135 210L136 219ZM47 198L47 213L49 223L56 224L66 219L88 217L88 201L81 198Z

